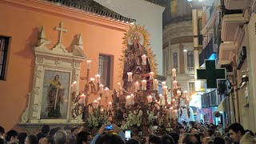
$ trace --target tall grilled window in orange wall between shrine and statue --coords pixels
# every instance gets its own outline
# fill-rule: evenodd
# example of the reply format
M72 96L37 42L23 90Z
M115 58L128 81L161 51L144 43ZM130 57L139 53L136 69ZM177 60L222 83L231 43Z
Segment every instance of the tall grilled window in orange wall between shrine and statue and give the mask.
M100 74L100 83L104 87L110 88L110 73L111 73L111 56L109 55L99 55L98 60L98 74Z

